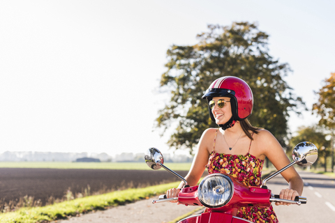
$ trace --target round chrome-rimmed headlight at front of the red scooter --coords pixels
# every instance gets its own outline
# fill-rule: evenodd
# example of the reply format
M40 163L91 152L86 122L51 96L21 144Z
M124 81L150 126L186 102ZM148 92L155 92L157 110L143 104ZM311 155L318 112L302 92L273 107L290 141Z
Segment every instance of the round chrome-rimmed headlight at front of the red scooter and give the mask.
M198 198L207 208L220 208L232 199L234 186L232 180L223 174L206 176L198 187Z

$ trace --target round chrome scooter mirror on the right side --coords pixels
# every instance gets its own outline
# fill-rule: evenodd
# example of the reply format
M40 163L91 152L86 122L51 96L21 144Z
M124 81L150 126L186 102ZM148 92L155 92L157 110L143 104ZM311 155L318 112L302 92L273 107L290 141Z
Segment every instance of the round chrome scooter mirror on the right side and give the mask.
M292 158L300 167L311 166L318 159L318 148L309 141L302 141L293 148Z

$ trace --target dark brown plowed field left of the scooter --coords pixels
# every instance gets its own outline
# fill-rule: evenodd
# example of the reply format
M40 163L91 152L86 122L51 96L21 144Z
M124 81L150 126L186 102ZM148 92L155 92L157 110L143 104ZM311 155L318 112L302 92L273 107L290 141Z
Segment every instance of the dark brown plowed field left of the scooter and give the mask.
M177 171L186 176L187 171ZM0 168L0 199L19 199L25 195L43 203L51 196L61 199L70 187L73 194L111 189L157 185L179 179L168 171L114 169L28 169Z

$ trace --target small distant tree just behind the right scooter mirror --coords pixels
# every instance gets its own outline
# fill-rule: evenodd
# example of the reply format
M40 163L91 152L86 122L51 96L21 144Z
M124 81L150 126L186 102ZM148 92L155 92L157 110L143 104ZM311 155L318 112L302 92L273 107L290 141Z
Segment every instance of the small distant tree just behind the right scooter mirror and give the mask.
M318 148L318 160L316 160L313 167L316 169L318 162L324 164L325 172L327 172L327 156L330 153L330 141L326 139L325 130L322 130L319 126L305 127L301 126L298 128L297 136L292 137L290 140L290 152L292 148L295 147L301 141L311 141L316 148ZM288 153L288 151L287 151Z

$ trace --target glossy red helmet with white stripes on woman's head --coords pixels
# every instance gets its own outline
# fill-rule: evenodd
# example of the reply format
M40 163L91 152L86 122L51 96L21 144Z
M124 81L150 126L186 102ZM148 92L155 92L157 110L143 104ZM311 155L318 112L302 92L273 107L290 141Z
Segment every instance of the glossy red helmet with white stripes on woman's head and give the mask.
M253 111L253 92L243 79L226 76L216 79L202 98L210 101L214 97L231 98L232 117L235 121L241 121L251 115ZM211 109L209 108L211 120L215 121Z

